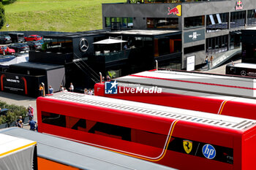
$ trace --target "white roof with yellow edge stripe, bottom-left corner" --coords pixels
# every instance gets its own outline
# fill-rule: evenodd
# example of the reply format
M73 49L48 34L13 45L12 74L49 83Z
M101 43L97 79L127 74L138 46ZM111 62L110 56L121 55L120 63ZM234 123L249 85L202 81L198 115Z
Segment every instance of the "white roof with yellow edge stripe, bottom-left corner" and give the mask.
M37 142L28 139L20 139L15 136L0 134L0 158L14 152L19 152L35 144L37 144Z

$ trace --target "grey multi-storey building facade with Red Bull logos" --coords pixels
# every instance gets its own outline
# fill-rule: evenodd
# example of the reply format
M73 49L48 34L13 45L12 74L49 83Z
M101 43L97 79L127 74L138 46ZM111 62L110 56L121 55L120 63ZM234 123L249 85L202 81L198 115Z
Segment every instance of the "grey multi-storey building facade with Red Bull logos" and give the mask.
M241 47L241 29L256 25L254 0L128 0L102 4L103 28L181 31L181 69L194 56L218 58ZM156 40L157 41L157 40ZM193 63L192 63L193 64Z

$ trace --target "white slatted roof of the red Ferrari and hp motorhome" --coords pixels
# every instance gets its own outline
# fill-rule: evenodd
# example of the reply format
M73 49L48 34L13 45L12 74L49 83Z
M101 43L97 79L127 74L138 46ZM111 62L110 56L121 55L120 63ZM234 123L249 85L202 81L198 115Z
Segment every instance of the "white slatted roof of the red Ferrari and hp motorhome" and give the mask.
M241 117L231 117L226 115L216 115L208 112L199 112L189 109L179 109L175 107L164 107L156 104L145 104L136 101L125 101L116 98L101 96L89 96L81 93L59 92L45 99L55 99L56 102L69 101L79 104L87 104L95 107L117 109L125 112L133 112L141 115L151 115L165 117L172 120L183 120L187 122L212 125L215 127L246 130L256 124L256 120ZM38 102L38 101L37 101Z

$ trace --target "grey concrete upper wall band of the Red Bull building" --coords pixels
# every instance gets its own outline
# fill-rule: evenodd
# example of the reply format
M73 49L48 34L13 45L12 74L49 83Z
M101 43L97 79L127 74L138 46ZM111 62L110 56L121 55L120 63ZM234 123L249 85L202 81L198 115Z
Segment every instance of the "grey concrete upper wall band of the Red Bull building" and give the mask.
M186 18L197 15L210 15L223 12L234 12L237 0L200 1L181 3L181 17L167 15L168 7L176 4L102 4L102 16L121 18ZM244 9L256 9L255 0L243 0ZM104 25L105 26L105 25Z

